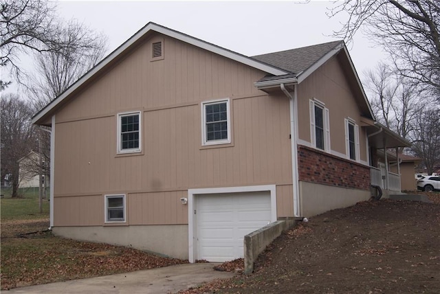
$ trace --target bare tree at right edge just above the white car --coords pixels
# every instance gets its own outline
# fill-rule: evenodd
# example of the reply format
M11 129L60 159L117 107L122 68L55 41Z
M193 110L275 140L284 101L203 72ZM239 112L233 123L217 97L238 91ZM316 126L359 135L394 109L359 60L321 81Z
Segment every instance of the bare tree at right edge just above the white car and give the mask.
M412 151L423 159L428 174L440 166L440 108L417 113L412 132Z

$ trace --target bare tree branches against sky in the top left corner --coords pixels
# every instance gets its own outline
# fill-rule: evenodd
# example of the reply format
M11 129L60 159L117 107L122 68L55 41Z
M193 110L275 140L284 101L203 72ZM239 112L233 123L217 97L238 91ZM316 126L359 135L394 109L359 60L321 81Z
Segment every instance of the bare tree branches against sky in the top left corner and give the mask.
M21 82L24 71L20 54L30 52L67 52L89 49L93 40L83 25L65 25L56 17L54 2L47 0L0 0L0 65L10 67ZM74 30L72 30L74 28ZM74 38L69 38L74 36ZM0 89L9 82L1 80Z

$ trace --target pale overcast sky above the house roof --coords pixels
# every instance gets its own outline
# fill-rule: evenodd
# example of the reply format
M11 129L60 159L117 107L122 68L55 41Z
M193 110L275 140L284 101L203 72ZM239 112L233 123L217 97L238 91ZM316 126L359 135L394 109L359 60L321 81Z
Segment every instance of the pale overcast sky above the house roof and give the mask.
M58 1L61 19L107 35L110 53L153 21L246 56L336 41L347 15L329 18L333 1ZM349 53L361 80L386 54L358 32ZM26 60L26 58L23 58ZM30 62L25 64L29 66ZM4 73L3 73L4 75ZM20 91L10 87L6 92Z

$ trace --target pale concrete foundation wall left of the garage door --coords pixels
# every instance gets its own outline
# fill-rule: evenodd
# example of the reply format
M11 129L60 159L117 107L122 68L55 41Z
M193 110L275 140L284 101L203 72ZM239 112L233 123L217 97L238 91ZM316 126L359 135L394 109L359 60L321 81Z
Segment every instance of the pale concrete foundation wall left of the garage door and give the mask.
M188 225L53 227L52 231L64 238L104 242L188 259Z

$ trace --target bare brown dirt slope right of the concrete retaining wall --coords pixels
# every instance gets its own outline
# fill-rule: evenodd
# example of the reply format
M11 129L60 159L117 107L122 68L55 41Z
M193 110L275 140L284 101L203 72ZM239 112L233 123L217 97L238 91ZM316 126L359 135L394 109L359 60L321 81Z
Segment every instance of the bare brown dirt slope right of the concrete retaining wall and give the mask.
M252 275L186 293L440 293L440 204L362 202L276 239Z

